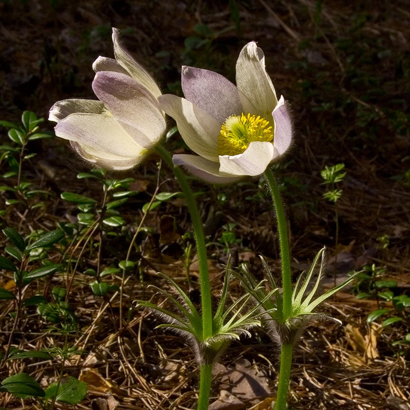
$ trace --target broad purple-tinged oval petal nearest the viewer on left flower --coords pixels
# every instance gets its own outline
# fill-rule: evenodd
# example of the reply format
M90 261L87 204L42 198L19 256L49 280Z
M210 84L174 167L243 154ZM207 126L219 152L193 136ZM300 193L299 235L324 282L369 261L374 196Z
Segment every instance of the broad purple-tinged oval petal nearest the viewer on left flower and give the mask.
M158 101L130 76L100 71L93 81L95 95L122 128L144 148L152 148L165 132L166 123Z

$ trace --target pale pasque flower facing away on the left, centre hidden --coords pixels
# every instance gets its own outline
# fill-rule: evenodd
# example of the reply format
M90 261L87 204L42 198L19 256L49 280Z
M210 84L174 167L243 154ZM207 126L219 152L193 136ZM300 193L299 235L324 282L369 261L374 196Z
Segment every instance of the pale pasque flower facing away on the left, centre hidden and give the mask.
M166 129L161 91L151 75L119 42L113 28L113 58L98 57L92 88L98 100L66 99L51 107L55 134L70 140L83 158L112 170L137 165Z

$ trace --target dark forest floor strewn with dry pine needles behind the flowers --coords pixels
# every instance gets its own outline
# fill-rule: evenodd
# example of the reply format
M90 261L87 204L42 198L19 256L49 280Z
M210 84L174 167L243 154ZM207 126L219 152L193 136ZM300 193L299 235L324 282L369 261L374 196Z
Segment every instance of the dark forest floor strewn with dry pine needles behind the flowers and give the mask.
M410 293L409 6L407 0L3 0L0 120L18 123L25 110L47 119L57 100L95 99L91 66L98 55L113 57L112 27L120 29L125 45L162 92L178 95L181 65L216 70L235 81L239 51L256 40L294 121L292 150L276 167L289 218L294 277L309 269L323 246L324 286L364 270L350 288L321 306L342 325L317 320L303 332L294 353L290 407L410 409L410 304L403 302ZM169 125L174 125L171 119ZM47 120L40 127L53 130ZM7 128L1 127L2 151L13 144ZM169 146L188 152L176 137ZM77 330L66 338L58 323L50 329L47 315L28 305L12 331L15 302L1 300L0 338L5 348L13 332L11 346L25 351L53 347L55 352L67 343L76 350L67 360L58 355L43 362L9 360L0 379L25 372L46 388L63 368L64 375L87 383L83 401L56 402L55 408L195 408L198 366L189 345L169 330L155 330L158 319L133 309L132 303L161 302L148 287L166 286L157 272L188 290L184 252L192 243L192 228L183 200L172 197L148 212L131 250L132 269L101 277L127 258L142 207L156 189L179 191L171 172L164 165L158 168L159 158L153 155L132 171L107 174L106 179L134 178L129 189L137 194L118 209L125 220L121 228L108 234L99 225L91 232L87 224L78 224L79 212L90 210L79 211L61 198L70 192L103 200L99 180L77 178L90 172L87 163L59 138L29 142L29 153L35 155L20 165L20 178L31 183L33 193L17 202L12 189L16 177L9 173L15 164L0 157L0 228L11 227L28 237L68 223L79 227L77 236L67 233L64 252L60 247L49 253L66 263L67 270L25 288L27 297L42 295L48 301L53 289L68 290L65 300L75 313ZM342 195L335 206L323 198L328 187L321 170L337 163L344 164L346 176L337 184ZM195 180L191 184L209 243L215 304L229 253L235 267L247 263L261 275L262 255L280 278L275 215L263 179L228 187ZM5 257L7 245L7 237L0 235ZM190 258L195 300L194 251ZM112 286L108 293L98 294L90 286L96 278ZM17 294L12 273L0 271L0 288ZM120 288L121 297L116 292ZM241 292L235 283L230 298ZM385 311L378 316L380 309ZM372 313L374 320L369 319ZM233 343L215 367L210 408L270 409L278 364L277 345L262 331ZM2 406L42 408L36 399L8 393L0 393Z

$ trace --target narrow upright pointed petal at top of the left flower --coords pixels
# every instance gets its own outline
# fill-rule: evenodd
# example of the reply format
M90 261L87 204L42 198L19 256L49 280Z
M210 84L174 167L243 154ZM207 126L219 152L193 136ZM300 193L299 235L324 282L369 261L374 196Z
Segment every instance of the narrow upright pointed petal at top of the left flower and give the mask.
M114 56L118 63L129 72L131 77L147 88L155 98L159 97L161 91L154 79L137 63L128 50L120 44L119 31L115 28L112 29L112 40L114 43Z

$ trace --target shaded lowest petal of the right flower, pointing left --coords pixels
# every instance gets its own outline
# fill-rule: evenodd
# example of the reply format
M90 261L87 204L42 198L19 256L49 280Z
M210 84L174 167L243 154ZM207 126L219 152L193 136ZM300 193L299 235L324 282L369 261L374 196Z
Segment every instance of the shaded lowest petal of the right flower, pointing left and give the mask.
M174 155L172 161L175 165L180 165L196 177L211 183L235 182L240 177L219 172L219 163L209 161L198 155Z

